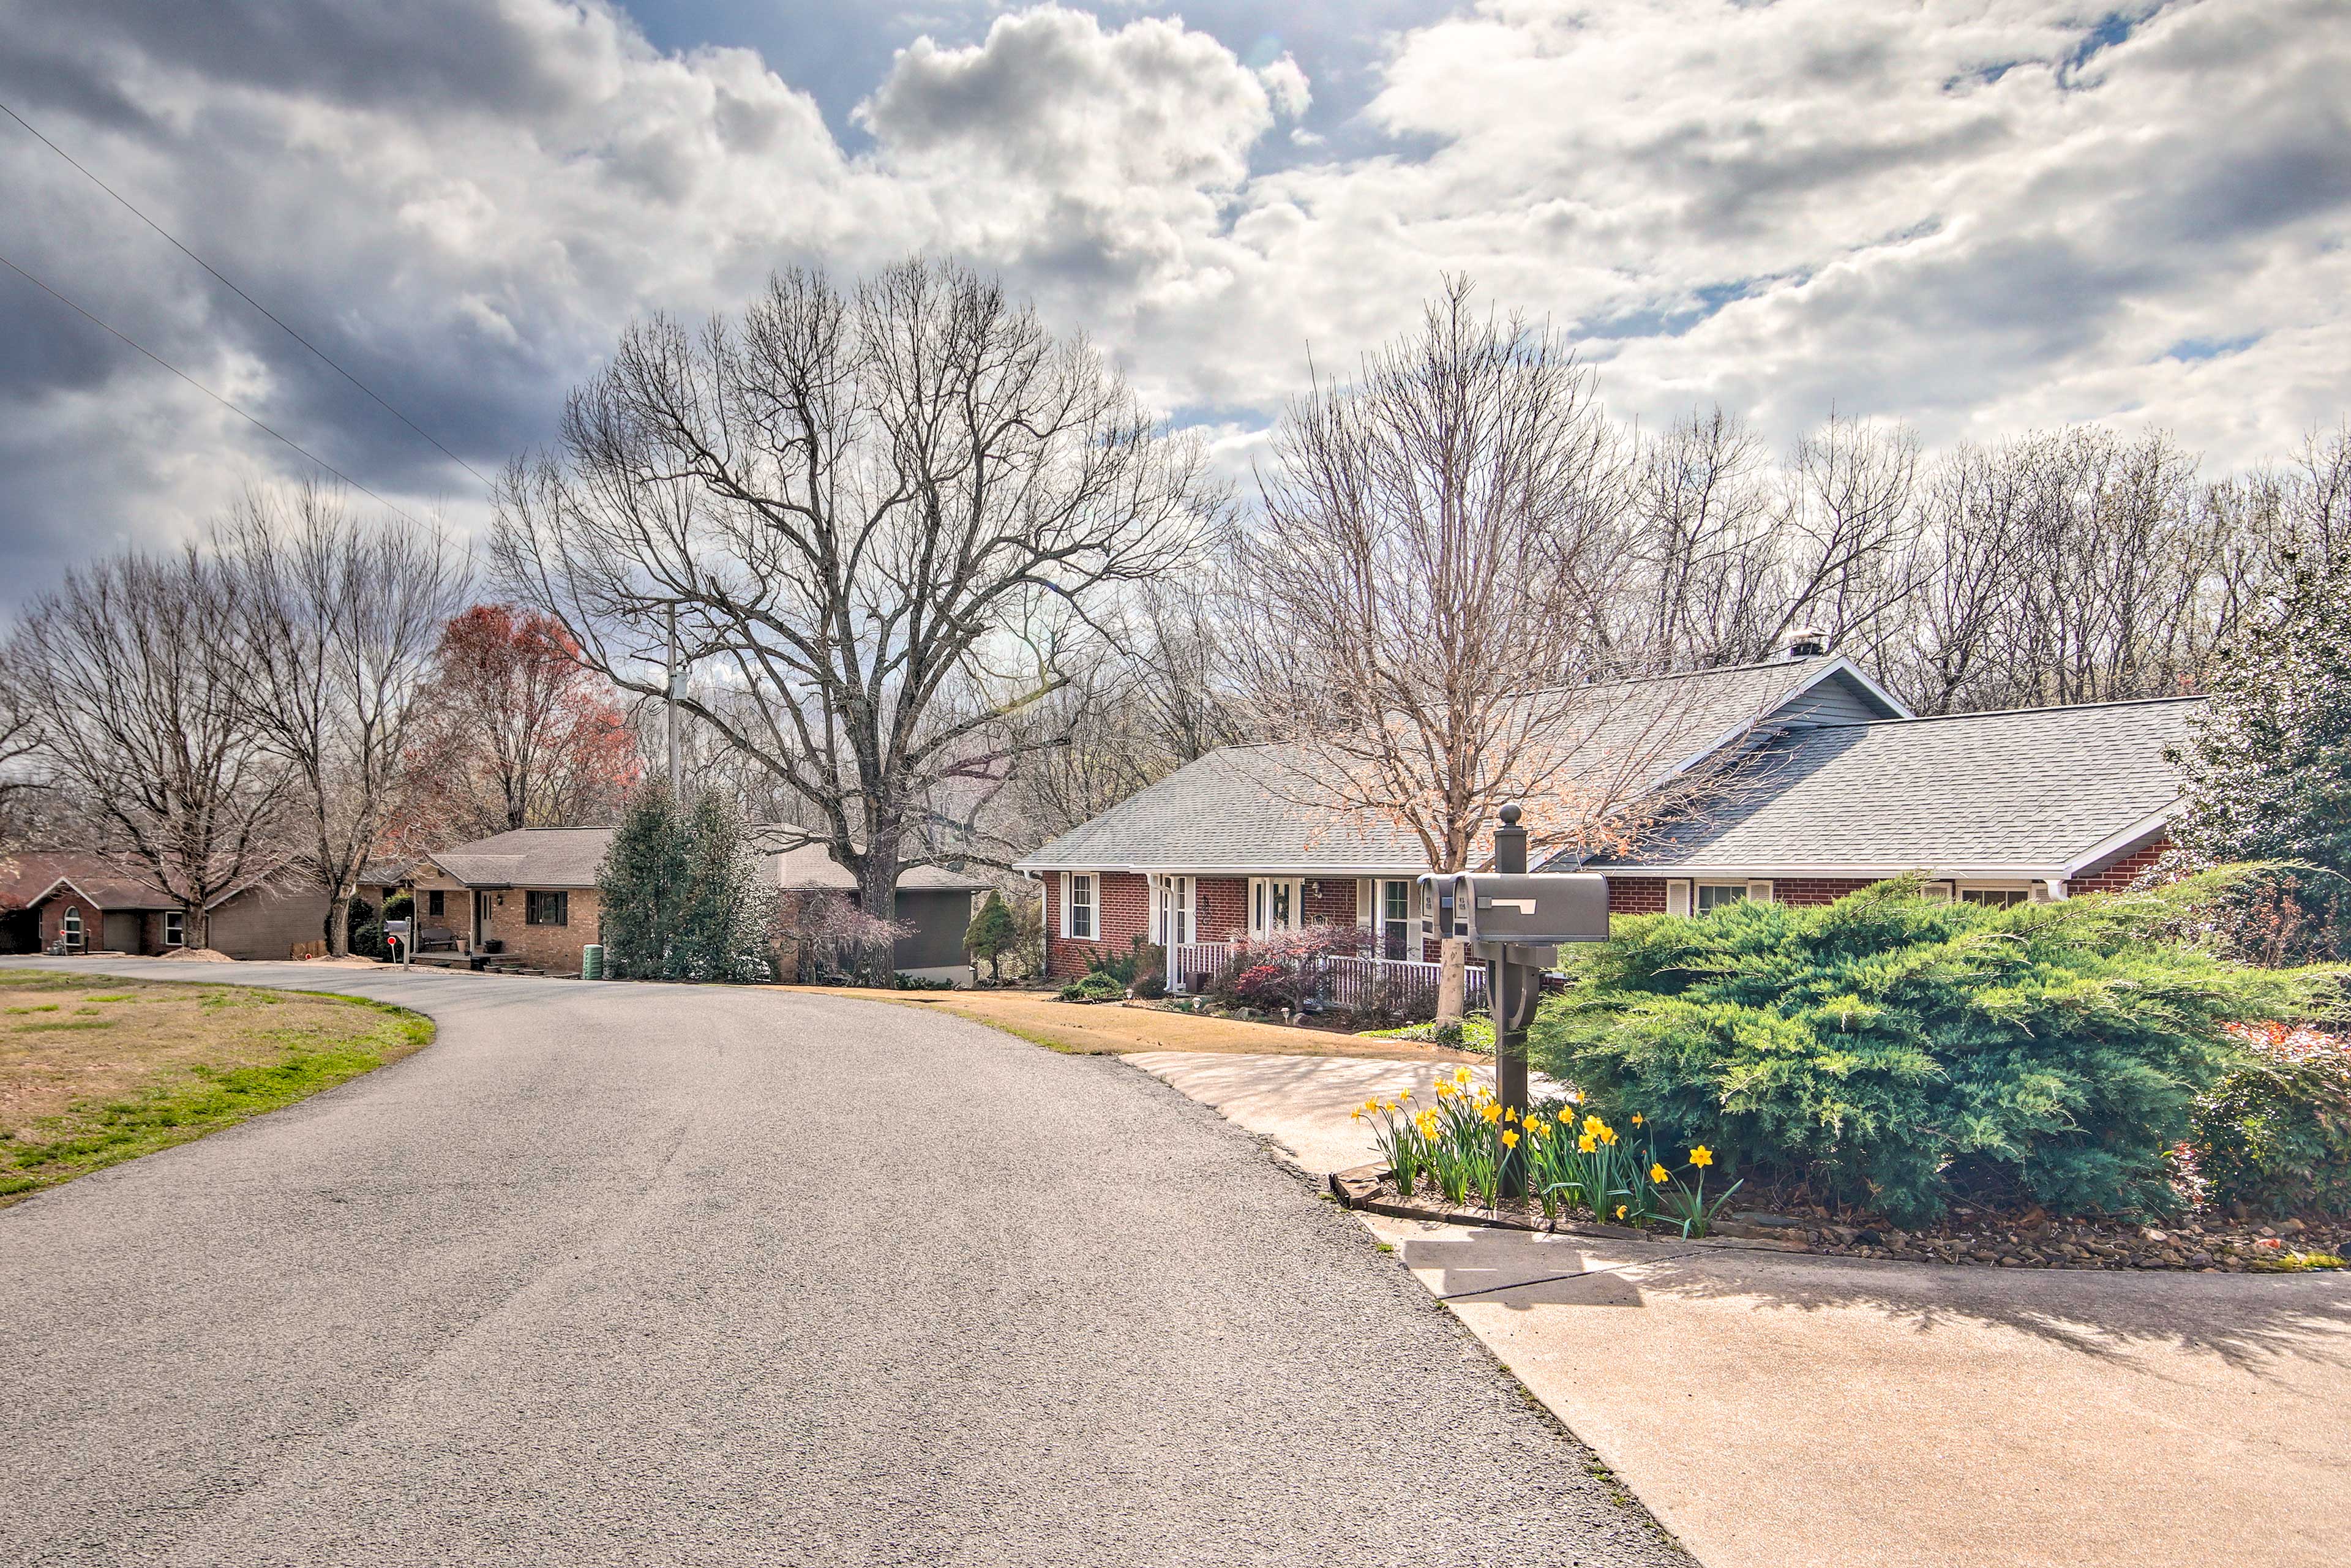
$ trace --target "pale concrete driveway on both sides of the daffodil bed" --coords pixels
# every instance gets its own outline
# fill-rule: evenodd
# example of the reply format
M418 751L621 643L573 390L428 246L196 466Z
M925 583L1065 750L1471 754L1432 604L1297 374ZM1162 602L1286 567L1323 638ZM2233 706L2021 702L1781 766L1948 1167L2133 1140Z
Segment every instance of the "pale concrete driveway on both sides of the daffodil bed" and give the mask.
M1138 1058L1131 1058L1138 1060ZM1394 1063L1154 1072L1340 1168ZM1961 1269L1366 1215L1709 1568L2335 1566L2351 1279Z

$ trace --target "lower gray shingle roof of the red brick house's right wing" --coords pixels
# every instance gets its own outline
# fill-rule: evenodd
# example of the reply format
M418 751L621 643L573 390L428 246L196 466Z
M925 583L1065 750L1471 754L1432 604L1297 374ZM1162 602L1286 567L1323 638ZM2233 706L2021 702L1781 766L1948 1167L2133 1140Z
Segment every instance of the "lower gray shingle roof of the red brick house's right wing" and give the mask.
M2203 698L1838 724L1782 736L1747 788L1589 870L2050 875L2083 870L2179 797L2163 748Z

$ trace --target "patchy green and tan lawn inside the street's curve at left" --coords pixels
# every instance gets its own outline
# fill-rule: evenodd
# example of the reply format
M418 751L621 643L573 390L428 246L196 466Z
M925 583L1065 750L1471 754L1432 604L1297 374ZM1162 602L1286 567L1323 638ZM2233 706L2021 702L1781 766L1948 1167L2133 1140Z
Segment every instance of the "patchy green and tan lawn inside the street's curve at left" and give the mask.
M407 1009L0 969L0 1204L188 1143L433 1041Z

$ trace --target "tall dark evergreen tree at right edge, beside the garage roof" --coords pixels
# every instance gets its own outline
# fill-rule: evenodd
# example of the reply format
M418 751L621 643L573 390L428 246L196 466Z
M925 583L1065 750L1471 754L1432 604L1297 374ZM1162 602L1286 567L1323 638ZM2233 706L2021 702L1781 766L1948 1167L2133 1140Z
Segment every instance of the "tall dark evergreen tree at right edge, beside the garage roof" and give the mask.
M2295 860L2241 893L2236 931L2271 961L2351 957L2351 559L2295 571L2212 670L2172 762L2179 846L2201 865Z

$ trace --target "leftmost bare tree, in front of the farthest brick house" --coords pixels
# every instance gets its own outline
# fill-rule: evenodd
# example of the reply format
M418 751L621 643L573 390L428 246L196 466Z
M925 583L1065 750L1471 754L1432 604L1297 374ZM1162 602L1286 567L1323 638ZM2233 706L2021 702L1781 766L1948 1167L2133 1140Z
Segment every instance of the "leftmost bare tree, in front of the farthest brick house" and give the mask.
M181 905L209 945L212 905L292 860L292 769L240 696L235 571L195 548L118 555L40 597L7 663L49 783L96 844Z

